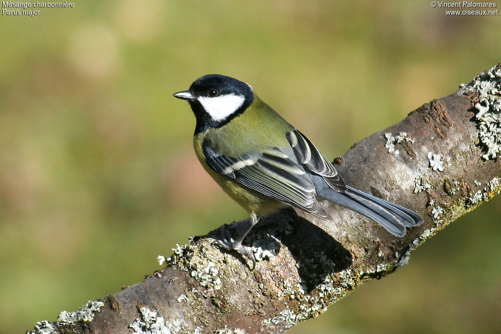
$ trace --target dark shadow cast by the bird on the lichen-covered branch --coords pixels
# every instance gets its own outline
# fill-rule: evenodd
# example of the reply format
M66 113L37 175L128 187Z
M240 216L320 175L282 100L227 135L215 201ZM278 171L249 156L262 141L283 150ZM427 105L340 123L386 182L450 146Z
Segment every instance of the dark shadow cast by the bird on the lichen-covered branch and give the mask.
M227 228L238 234L247 223L248 219L236 221ZM204 237L219 239L221 228L194 240ZM313 222L298 216L292 208L263 216L243 245L253 250L258 261L281 256L281 252L287 249L294 258L292 264L298 268L302 288L307 292L314 290L329 274L340 272L353 262L352 254L339 241ZM221 251L248 265L241 254L222 248Z

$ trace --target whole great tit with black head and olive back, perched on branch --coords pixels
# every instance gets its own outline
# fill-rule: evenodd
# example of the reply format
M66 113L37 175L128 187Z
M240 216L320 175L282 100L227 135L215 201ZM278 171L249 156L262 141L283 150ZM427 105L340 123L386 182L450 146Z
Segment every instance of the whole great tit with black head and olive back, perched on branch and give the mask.
M212 74L174 94L189 102L196 118L193 146L204 169L250 214L244 231L218 244L256 264L242 241L259 216L294 206L325 220L327 199L371 218L402 237L423 218L409 209L346 185L334 166L299 130L236 79Z

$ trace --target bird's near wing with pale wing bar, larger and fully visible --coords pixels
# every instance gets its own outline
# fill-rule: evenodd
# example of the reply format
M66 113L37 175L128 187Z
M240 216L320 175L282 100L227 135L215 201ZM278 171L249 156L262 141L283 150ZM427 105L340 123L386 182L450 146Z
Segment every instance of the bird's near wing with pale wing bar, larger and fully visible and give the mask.
M202 145L209 167L244 186L320 218L329 215L318 204L315 186L305 170L277 148L230 157Z

